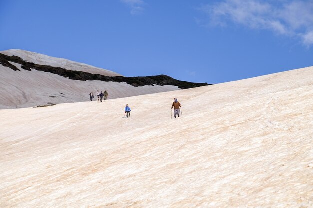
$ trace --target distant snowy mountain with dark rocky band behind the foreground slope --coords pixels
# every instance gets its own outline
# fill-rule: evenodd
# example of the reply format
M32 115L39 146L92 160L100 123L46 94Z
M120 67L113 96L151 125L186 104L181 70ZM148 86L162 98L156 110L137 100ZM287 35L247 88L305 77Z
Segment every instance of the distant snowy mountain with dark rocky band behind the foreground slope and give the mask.
M90 65L23 50L0 52L0 109L47 103L88 101L90 92L108 98L166 92L207 83L191 83L165 75L124 77Z

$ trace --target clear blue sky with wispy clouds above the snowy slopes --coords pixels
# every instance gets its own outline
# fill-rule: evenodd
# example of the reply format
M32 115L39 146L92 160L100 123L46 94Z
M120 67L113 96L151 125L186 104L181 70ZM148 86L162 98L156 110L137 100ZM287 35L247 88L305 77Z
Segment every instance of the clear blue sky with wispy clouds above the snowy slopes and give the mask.
M313 65L311 0L0 0L0 50L221 83Z

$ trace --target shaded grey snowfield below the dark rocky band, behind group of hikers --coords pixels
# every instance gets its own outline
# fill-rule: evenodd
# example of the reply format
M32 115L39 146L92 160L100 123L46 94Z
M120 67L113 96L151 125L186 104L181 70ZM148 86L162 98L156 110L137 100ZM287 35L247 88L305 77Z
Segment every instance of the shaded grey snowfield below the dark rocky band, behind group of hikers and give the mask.
M17 54L16 54L17 55ZM108 91L108 99L178 90L177 86L134 87L127 83L72 80L49 72L32 69L10 62L20 71L0 65L0 109L32 107L50 103L68 103L90 100L90 92L96 98L96 90Z

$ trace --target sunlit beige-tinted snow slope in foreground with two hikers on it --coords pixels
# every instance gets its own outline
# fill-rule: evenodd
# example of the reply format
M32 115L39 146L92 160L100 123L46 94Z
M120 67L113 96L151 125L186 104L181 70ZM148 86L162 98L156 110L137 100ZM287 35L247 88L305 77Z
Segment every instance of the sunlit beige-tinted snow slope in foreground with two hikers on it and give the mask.
M171 120L174 97L183 117ZM312 106L309 67L105 103L0 110L0 205L312 208Z

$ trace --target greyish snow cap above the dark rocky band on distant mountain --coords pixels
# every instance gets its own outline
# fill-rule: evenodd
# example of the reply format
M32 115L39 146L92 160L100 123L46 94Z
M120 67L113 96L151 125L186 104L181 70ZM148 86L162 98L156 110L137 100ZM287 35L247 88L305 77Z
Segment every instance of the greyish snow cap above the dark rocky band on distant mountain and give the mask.
M75 61L70 61L64 58L55 58L47 55L43 55L40 53L30 52L26 50L18 50L18 49L11 49L11 50L4 50L0 51L0 53L9 55L9 56L18 56L22 58L24 61L41 64L41 65L49 65L54 67L61 67L66 68L68 70L75 70L75 71L84 71L89 72L91 74L102 74L106 76L122 76L116 72L97 68L91 65L87 65L84 63L78 63Z

